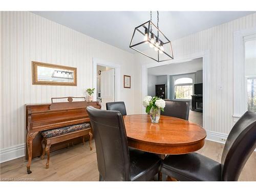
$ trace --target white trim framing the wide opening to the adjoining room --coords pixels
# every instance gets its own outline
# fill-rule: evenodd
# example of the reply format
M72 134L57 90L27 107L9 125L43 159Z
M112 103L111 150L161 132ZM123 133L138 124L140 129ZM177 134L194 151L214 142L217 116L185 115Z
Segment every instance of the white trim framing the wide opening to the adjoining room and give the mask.
M170 61L152 62L142 66L142 99L147 95L147 69L153 67L159 67L169 64L175 64L179 62L191 61L196 58L203 58L203 127L205 130L211 130L209 122L210 114L210 50L205 50L199 53L190 55L184 55L176 57ZM144 106L142 106L142 113L145 113Z

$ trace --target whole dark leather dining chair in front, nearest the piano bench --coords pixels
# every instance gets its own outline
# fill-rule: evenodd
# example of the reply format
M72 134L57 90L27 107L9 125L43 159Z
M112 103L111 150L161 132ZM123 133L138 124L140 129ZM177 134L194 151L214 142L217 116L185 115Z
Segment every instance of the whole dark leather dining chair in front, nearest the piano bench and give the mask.
M99 181L148 181L160 172L158 155L129 148L119 111L87 107L96 146Z

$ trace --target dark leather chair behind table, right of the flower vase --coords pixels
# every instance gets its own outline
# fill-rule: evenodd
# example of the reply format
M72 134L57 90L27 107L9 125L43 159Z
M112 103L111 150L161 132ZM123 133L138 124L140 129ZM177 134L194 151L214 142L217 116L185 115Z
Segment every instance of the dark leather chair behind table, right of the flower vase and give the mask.
M172 101L168 99L164 100L165 108L164 111L161 112L161 115L188 120L190 101Z

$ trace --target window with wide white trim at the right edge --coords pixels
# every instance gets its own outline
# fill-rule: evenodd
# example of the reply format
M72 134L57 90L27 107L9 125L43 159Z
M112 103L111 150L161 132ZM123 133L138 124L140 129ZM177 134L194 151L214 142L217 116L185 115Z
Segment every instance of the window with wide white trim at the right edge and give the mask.
M255 106L256 27L234 32L233 53L233 120L236 122Z

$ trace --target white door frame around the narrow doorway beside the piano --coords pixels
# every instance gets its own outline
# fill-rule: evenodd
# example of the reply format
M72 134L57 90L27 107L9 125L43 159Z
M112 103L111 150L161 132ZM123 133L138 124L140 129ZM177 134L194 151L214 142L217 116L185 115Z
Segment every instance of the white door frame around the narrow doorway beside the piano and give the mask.
M93 88L95 88L95 90L97 90L97 65L110 67L115 70L115 101L119 101L121 88L120 65L93 57ZM93 100L97 101L97 94L93 95Z

